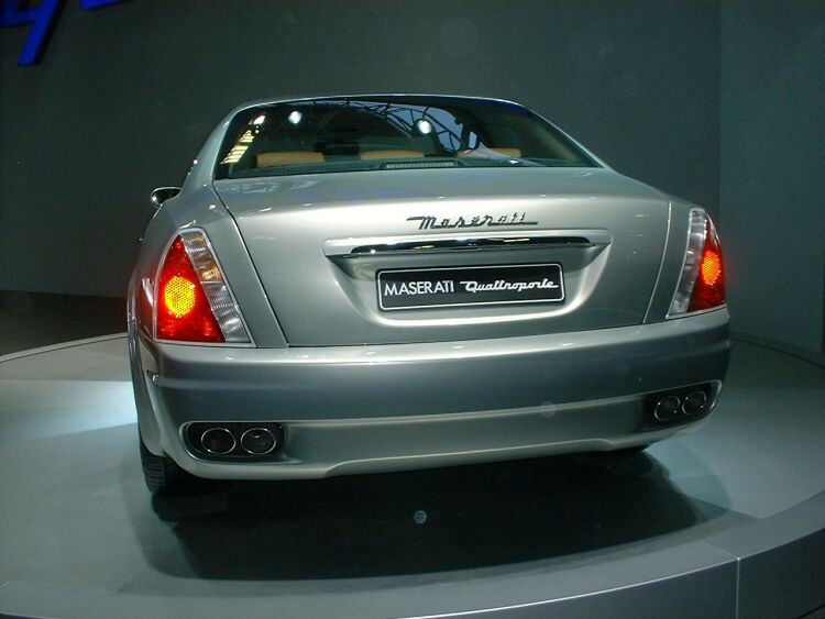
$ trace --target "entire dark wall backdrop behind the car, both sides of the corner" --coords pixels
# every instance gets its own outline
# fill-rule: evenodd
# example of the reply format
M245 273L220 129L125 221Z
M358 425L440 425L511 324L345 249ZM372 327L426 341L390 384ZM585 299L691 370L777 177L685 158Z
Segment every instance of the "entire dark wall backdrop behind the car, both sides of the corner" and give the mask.
M0 30L0 290L124 296L150 190L244 100L483 95L707 207L734 329L823 351L825 2L78 4L35 66Z

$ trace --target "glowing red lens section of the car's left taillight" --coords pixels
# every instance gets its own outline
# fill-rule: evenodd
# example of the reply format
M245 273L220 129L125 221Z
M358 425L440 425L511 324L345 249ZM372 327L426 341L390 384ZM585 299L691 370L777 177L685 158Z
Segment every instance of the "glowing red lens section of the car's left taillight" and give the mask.
M179 236L166 253L155 307L156 335L161 340L224 341Z

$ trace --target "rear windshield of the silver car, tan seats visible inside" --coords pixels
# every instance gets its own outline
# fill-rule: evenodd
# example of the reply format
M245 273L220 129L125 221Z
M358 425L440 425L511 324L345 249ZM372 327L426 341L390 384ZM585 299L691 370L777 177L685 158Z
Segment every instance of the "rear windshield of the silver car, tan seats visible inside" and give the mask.
M404 168L596 167L521 106L450 97L348 97L257 106L231 122L216 178Z

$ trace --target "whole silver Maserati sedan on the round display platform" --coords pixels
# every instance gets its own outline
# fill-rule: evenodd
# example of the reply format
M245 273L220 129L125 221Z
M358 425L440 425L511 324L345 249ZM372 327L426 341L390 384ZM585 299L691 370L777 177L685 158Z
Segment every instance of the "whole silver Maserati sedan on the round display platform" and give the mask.
M704 209L509 101L241 106L129 292L150 489L639 450L729 355Z

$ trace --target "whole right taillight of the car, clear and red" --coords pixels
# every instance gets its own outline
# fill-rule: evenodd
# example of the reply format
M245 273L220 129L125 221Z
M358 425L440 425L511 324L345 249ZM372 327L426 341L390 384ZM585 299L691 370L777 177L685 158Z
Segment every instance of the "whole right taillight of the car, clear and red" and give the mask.
M702 209L692 209L682 276L668 316L674 317L723 305L725 272L719 236L711 217Z

